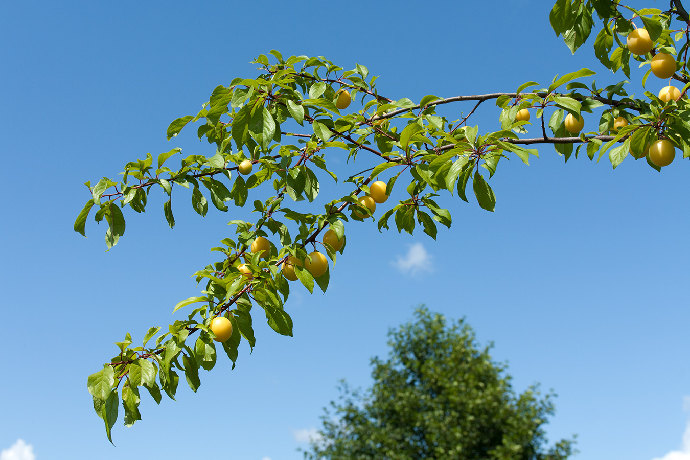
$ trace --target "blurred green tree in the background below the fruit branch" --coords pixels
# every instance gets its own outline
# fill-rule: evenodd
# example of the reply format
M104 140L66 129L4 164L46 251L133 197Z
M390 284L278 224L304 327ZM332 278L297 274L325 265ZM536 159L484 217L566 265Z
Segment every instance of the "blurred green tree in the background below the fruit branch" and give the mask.
M374 358L374 385L362 394L343 382L306 459L562 460L573 440L545 448L553 394L515 394L505 366L479 348L460 320L418 308L416 321L388 333L387 361Z

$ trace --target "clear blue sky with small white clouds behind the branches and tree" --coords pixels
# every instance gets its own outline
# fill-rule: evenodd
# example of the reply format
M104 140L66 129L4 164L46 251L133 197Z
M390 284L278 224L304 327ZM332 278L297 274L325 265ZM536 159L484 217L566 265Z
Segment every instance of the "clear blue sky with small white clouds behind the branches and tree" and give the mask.
M156 407L143 397L143 420L115 427L117 448L92 412L86 377L115 354L112 342L172 321L172 306L197 292L190 274L229 236L226 223L250 216L211 209L201 219L187 204L170 230L154 192L146 214L126 212L126 234L104 252L103 226L89 221L88 239L72 230L88 199L84 182L115 177L146 152L211 152L191 130L166 141L168 123L195 114L215 86L253 76L248 62L273 48L344 68L362 63L393 99L514 91L583 67L599 72L600 86L624 79L598 64L591 43L571 55L549 26L551 5L6 5L0 459L300 459L296 449L318 428L339 379L366 388L369 359L387 353L388 328L420 303L466 317L482 343L493 341L516 390L540 382L558 393L547 432L552 440L578 434L577 458L690 458L690 432L682 442L688 162L677 158L660 174L627 159L613 171L603 160L564 164L549 146L530 166L502 161L491 179L494 213L442 199L453 226L437 241L348 225L328 292L293 288L286 309L295 337L278 336L256 314L253 354L242 349L233 372L227 362L204 372L197 394L181 383L177 402ZM633 81L643 72L633 69ZM653 92L667 84L652 78ZM497 126L498 112L486 106L475 118L481 132ZM442 112L456 119L470 109ZM590 115L585 129L595 125ZM341 177L368 166L364 158L363 167L333 161ZM324 199L345 190L322 181Z

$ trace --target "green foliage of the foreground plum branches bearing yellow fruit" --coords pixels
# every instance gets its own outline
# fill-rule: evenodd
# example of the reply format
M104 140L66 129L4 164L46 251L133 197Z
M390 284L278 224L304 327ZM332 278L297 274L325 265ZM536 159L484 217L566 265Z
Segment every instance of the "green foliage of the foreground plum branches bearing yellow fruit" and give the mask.
M673 0L667 12L635 10L610 0L558 0L550 16L553 30L562 35L573 52L593 32L596 18L601 30L595 37L594 51L604 66L613 72L622 70L629 77L631 59L644 66L655 53L667 52L678 57L673 79L689 81L690 18L679 0ZM678 30L671 26L674 18L681 25ZM647 28L656 43L656 48L644 56L631 55L622 41L633 28L633 19ZM285 59L275 50L270 54L270 59L262 54L253 61L259 66L256 77L237 77L227 86L218 86L201 111L170 123L168 139L176 137L190 123L197 123L197 136L215 146L213 154L180 157L177 155L181 149L172 148L156 159L146 154L143 160L126 163L121 181L104 177L93 185L86 183L90 196L74 228L85 234L90 214L98 223L105 220L108 249L118 243L126 230L123 210L144 212L151 190L157 188L162 188L167 196L163 210L170 228L175 226L173 192L176 197L187 194L201 216L208 212L209 200L220 211L227 212L229 204L248 206L259 215L255 222L230 221L235 236L221 239L221 246L212 248L219 252L219 260L195 273L197 283L203 281L204 289L173 309L195 306L186 319L168 325L155 340L152 339L161 328L150 328L139 346L132 346L130 334L126 334L124 341L116 344L117 355L88 378L94 408L105 423L109 439L120 399L124 423L131 426L141 418L140 388L146 388L157 402L161 400L161 390L174 399L178 372L184 372L193 391L199 388L199 368L213 368L220 352L209 329L215 317L228 317L236 331L219 345L233 362L233 368L240 341L245 339L251 347L255 345L253 307L264 312L273 330L292 335L292 319L284 309L290 286L281 274L282 264L297 257L302 263L295 266L299 282L309 292L313 292L315 284L325 292L330 272L326 270L313 277L302 268L307 266L304 261L311 258L308 246L315 247L318 235L326 228L342 239L346 223L364 221L361 216L367 214L366 207L357 198L368 193L369 184L377 177L388 178L388 194L400 181L409 195L391 208L377 212L379 230L388 229L393 217L399 232L412 233L419 225L435 238L437 223L450 228L452 222L449 210L436 201L440 193L447 191L453 195L457 191L460 199L469 201L467 188L471 183L479 205L493 211L496 197L489 179L498 165L513 154L529 164L529 157L538 154L536 149L526 148L531 144L552 144L565 161L573 154L577 158L581 151L589 159L598 160L608 153L613 168L629 152L635 157L644 156L645 148L657 139L668 139L682 150L683 157L690 156L690 110L684 97L687 85L679 101L664 102L651 92L645 92L644 98L635 98L625 90L627 81L605 88L598 88L595 82L587 86L577 81L595 73L582 69L556 75L544 87L529 81L515 92L447 98L428 94L420 101L412 101L379 94L377 77L359 64L344 70L324 57ZM644 75L643 84L648 76L649 72ZM336 99L340 107L347 102L342 96L337 97L343 89L349 90L356 110L337 108ZM438 112L449 104L468 101L475 105L466 114L461 112L457 119ZM467 121L486 101L495 102L501 129L480 134L480 128ZM515 120L518 110L524 108L531 108L538 120L538 137L524 137L529 122ZM600 114L598 131L579 135L566 132L566 112L578 117L580 112L594 110ZM627 119L629 125L612 131L618 117ZM551 135L547 135L546 128ZM313 208L311 212L298 212L289 208L292 201L313 203L319 195L319 181L324 177L339 183L327 157L342 151L347 152L348 162L354 163L364 153L366 161L375 159L377 164L340 181L349 189L341 196L327 199L322 211ZM170 166L173 157L179 166ZM237 168L246 160L253 163L255 172L245 178L237 174ZM649 158L647 163L660 169ZM264 183L261 190L273 192L269 196L250 197ZM175 203L178 202L176 198ZM259 236L272 239L267 259L248 250ZM342 254L344 249L335 251L324 244L334 263L337 253ZM249 275L239 270L242 263ZM151 340L153 344L147 348Z

